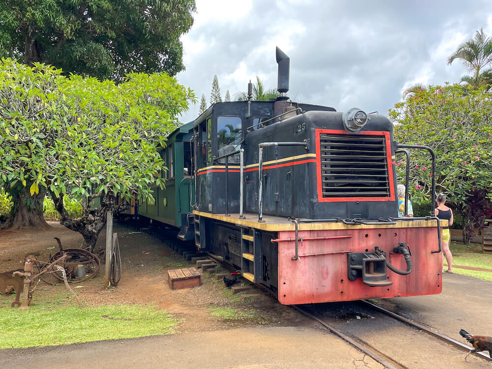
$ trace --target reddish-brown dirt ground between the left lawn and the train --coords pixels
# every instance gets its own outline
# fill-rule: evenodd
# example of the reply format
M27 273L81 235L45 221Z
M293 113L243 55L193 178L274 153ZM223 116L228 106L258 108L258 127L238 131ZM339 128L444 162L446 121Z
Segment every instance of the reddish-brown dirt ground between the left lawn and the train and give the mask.
M36 259L47 261L49 254L58 251L53 237L62 241L64 248L78 248L82 236L58 222L49 222L52 229L3 230L0 231L0 273L23 268L26 255L33 254ZM252 287L242 294L232 295L221 280L215 280L215 273L224 270L202 273L202 286L171 290L167 283L167 270L192 267L181 255L164 246L159 240L145 233L137 233L115 226L121 248L123 272L118 287L104 286L104 264L99 275L92 280L73 284L79 299L86 306L112 304L154 305L165 309L177 318L184 318L178 331L200 332L224 330L250 326L316 326L315 323L294 309L280 305L273 297ZM96 250L105 245L105 232L101 232ZM245 280L243 280L246 282ZM239 284L238 284L239 285ZM34 291L31 304L41 296L49 297L66 291L64 285L48 286L41 282ZM254 296L248 296L254 295ZM1 300L10 303L15 295L2 296ZM69 301L72 300L72 301ZM67 299L73 304L73 299ZM3 305L5 306L5 304ZM252 313L251 318L222 319L212 316L210 307L233 307L238 312Z

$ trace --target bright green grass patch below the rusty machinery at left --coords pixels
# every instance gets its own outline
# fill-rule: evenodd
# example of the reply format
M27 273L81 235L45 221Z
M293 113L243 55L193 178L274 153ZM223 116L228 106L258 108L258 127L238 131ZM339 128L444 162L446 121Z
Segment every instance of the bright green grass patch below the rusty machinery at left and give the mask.
M66 306L65 293L33 300L27 310L10 307L14 295L3 297L8 307L0 308L0 349L171 334L181 321L155 307Z

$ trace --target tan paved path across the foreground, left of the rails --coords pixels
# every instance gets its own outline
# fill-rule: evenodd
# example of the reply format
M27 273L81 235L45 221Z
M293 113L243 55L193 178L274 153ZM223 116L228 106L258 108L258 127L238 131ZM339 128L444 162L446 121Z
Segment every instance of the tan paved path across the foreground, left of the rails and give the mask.
M241 328L0 351L0 368L382 368L312 328Z

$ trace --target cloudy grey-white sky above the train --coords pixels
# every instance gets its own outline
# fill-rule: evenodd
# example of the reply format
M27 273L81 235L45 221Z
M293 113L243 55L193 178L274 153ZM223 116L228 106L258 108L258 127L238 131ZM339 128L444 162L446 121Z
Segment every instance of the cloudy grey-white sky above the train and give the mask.
M290 57L295 101L338 111L386 114L414 83L459 82L465 68L446 59L477 30L492 35L490 0L196 0L182 37L186 70L178 80L198 103L210 101L216 74L222 98L258 75L277 87L275 47Z

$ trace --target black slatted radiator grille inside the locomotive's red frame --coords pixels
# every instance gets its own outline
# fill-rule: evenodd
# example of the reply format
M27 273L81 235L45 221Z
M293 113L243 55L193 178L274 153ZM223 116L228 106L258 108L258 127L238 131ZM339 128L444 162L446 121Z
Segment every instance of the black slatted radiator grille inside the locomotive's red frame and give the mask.
M326 197L389 197L385 136L320 134L321 184Z

